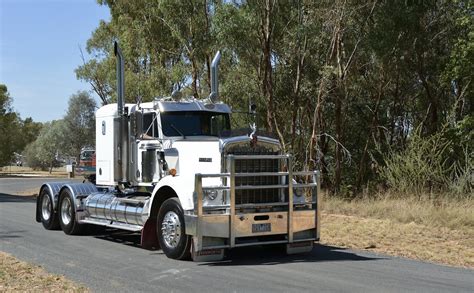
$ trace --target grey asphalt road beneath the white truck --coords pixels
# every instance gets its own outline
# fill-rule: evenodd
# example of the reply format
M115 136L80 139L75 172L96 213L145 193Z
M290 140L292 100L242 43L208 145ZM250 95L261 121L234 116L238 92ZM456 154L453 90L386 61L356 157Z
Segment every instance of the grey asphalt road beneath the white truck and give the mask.
M337 247L296 256L235 249L222 262L194 263L142 249L136 234L47 231L34 220L34 200L12 195L42 181L0 178L0 250L95 292L474 291L473 270Z

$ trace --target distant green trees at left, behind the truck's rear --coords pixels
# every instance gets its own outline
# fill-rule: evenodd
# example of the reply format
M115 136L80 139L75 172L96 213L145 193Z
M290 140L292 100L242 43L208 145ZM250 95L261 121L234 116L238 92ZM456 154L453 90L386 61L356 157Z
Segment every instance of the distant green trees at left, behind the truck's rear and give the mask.
M85 91L71 95L63 119L22 120L12 107L13 97L0 84L0 167L28 166L51 174L71 158L79 162L81 149L95 144L95 100Z

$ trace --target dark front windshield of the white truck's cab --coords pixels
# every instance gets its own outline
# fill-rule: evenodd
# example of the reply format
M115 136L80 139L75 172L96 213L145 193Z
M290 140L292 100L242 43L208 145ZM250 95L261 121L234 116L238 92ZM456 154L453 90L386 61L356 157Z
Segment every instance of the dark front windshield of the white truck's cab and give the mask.
M204 111L161 113L165 136L220 136L230 130L229 114Z

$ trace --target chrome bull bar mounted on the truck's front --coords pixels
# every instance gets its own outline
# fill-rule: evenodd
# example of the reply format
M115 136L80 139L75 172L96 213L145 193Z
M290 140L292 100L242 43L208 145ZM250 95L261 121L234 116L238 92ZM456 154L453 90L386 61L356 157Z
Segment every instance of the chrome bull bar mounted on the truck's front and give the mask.
M293 172L293 158L290 155L227 155L228 173L217 174L196 174L194 187L194 214L185 215L186 233L193 236L193 245L196 251L224 249L249 245L262 244L276 244L276 243L295 243L304 241L319 240L320 230L320 190L319 190L319 172L318 171L300 171ZM252 172L252 173L236 173L236 160L258 160L258 159L280 159L287 163L287 171L278 172ZM236 186L235 179L237 177L250 176L278 176L280 178L288 178L287 182L280 180L282 184L277 185L243 185ZM308 176L311 182L294 183L294 176ZM204 178L227 178L226 184L223 186L203 186ZM304 203L298 205L305 206L295 211L295 203L293 197L294 188L311 188L311 200L305 200ZM287 189L287 202L277 203L256 203L243 204L236 206L235 191L243 189ZM209 213L209 209L203 206L204 190L226 190L230 193L229 200L226 204L218 206L225 213L216 214ZM236 214L237 208L249 207L285 207L287 211L272 211L272 212L258 212L258 213L239 213ZM216 208L215 206L213 207ZM264 222L271 225L271 231L252 231L255 219L259 215L264 216ZM260 222L258 222L260 223ZM297 237L294 235L297 232L315 230L310 236ZM258 241L255 243L245 242L236 243L236 238L251 237L251 236L269 236L269 235L286 235L284 240L273 241ZM207 241L203 241L207 238ZM227 239L225 243L215 242L212 239ZM211 240L211 241L209 241Z

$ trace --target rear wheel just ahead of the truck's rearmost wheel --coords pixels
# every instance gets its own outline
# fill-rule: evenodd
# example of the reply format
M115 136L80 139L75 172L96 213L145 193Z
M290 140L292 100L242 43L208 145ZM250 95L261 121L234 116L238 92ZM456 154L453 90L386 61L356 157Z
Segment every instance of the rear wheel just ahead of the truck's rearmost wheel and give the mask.
M84 232L85 225L76 221L76 206L68 189L61 191L58 202L59 225L67 235L78 235Z

